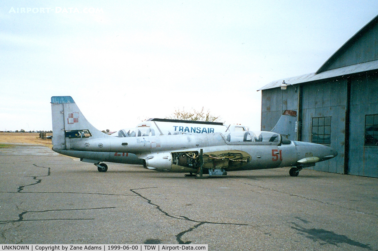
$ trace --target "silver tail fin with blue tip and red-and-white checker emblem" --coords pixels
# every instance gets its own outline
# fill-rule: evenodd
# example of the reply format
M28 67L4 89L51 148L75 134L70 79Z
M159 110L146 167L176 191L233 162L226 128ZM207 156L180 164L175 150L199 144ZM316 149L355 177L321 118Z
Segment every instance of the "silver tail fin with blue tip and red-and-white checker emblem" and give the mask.
M51 115L54 150L70 149L70 140L73 138L110 137L85 119L71 96L51 97Z

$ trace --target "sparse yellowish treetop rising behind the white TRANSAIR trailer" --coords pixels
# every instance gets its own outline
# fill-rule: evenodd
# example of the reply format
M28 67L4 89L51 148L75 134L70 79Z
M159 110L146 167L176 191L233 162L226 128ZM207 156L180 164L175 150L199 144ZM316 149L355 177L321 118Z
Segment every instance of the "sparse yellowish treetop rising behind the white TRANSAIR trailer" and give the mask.
M174 113L166 118L210 122L218 122L222 119L220 116L212 115L209 109L205 111L204 107L202 107L201 110L195 110L194 108L185 110L185 107L183 107L182 110L176 109Z

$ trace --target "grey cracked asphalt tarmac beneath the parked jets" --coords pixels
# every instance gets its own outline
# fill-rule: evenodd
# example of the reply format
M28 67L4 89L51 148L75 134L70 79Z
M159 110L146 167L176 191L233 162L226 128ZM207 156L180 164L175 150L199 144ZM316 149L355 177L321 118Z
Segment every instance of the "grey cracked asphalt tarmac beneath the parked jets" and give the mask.
M0 149L0 243L378 250L378 179L289 168L210 179Z

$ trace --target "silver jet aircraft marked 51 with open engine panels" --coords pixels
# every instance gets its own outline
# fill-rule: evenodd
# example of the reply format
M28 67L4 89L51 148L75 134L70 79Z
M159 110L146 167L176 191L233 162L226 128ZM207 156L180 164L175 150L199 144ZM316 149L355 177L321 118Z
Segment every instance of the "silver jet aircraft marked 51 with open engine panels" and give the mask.
M334 158L333 148L291 141L275 132L180 132L127 137L107 135L85 119L71 96L51 97L53 150L93 163L106 172L115 162L140 164L156 171L226 175L227 171L289 167L298 176L304 167Z

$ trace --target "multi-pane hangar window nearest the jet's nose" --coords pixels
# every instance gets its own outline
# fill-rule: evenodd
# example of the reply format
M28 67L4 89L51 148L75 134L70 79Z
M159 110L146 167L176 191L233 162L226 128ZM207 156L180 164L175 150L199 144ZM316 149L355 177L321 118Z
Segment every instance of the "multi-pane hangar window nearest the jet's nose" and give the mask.
M311 142L331 144L331 117L312 118Z

